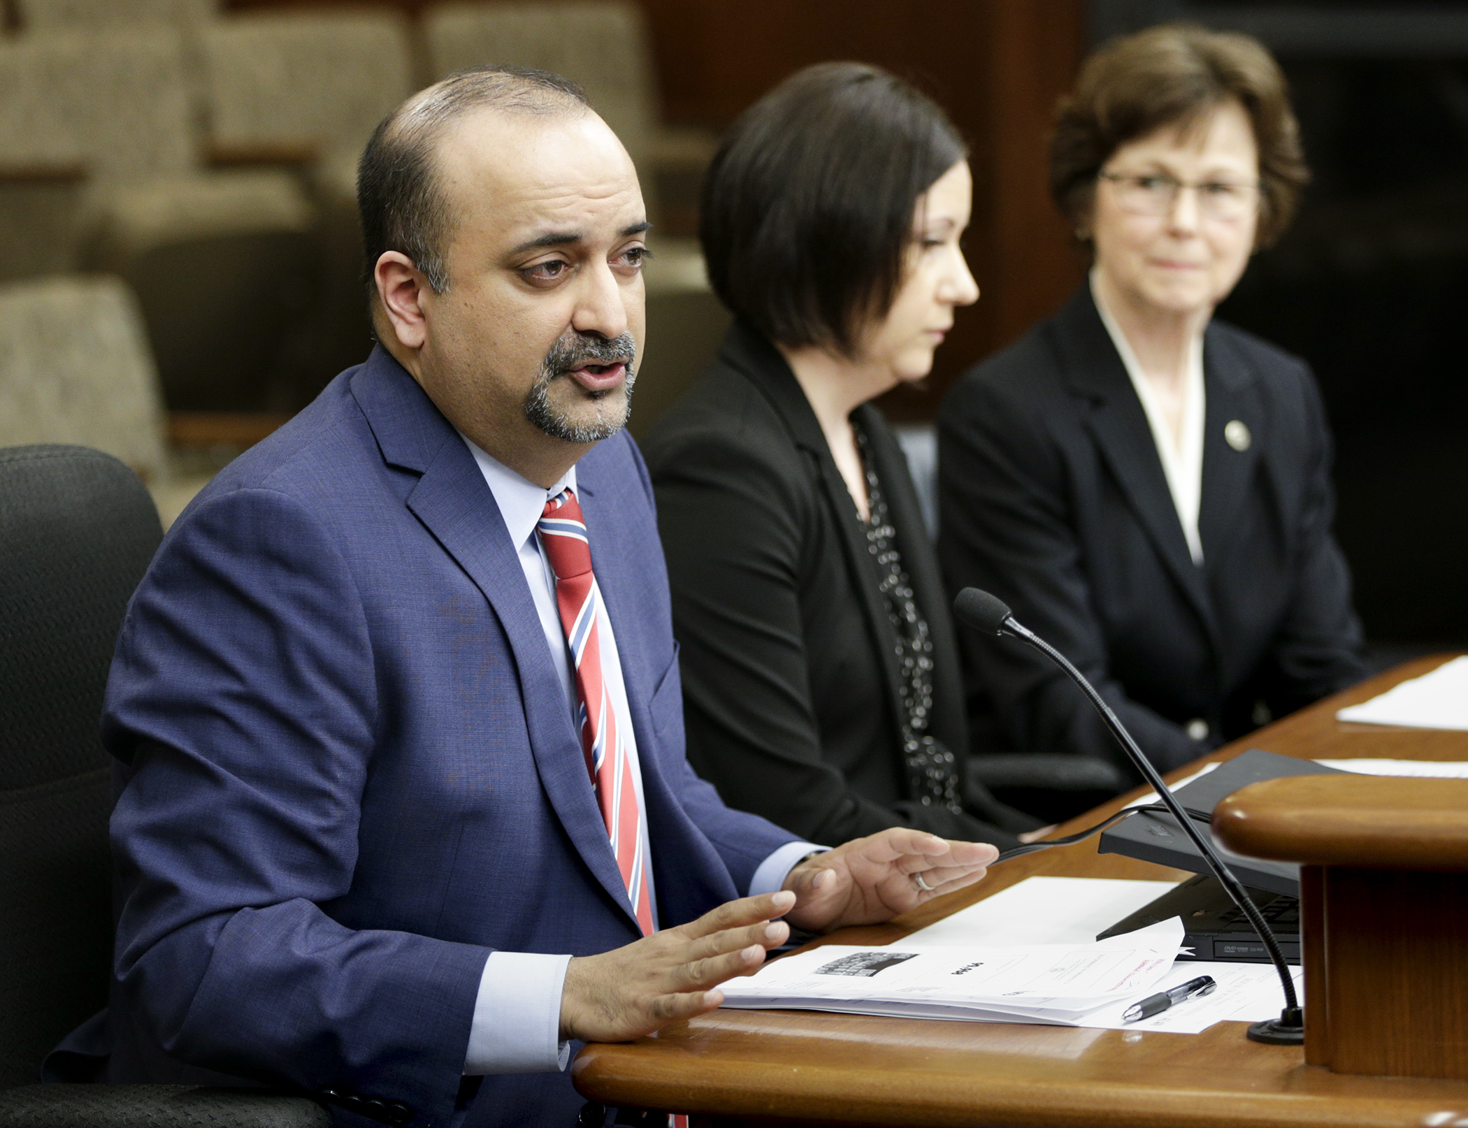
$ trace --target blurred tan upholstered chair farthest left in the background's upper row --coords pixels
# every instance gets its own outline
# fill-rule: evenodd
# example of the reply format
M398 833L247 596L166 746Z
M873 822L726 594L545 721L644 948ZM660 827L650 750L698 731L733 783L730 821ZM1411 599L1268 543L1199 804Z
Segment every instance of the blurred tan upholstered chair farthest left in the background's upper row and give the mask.
M172 411L285 411L317 292L316 208L285 169L213 166L194 57L166 22L0 38L0 219L22 232L0 274L117 274Z

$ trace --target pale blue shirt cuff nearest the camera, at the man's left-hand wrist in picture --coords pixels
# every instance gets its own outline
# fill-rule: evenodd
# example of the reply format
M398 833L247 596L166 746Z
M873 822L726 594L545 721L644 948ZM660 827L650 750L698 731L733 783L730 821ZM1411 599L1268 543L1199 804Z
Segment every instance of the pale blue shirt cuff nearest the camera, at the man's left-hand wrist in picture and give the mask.
M565 1069L571 1043L561 1041L561 993L570 964L568 955L489 953L479 977L465 1075Z

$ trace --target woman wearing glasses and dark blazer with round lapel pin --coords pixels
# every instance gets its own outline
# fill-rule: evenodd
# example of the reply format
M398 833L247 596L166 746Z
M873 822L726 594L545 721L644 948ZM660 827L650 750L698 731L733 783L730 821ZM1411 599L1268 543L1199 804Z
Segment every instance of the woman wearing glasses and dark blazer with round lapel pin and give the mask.
M944 402L940 556L951 593L1009 603L1166 770L1362 673L1315 380L1213 320L1308 173L1270 54L1193 25L1097 51L1050 160L1091 276ZM1124 766L1044 659L960 641L997 741Z

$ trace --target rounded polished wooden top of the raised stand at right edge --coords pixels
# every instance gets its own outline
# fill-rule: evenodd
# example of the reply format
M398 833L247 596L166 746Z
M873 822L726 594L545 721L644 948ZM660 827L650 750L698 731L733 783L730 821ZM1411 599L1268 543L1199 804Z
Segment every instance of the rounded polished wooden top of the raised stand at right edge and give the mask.
M1213 832L1254 858L1468 870L1468 779L1267 779L1218 804Z

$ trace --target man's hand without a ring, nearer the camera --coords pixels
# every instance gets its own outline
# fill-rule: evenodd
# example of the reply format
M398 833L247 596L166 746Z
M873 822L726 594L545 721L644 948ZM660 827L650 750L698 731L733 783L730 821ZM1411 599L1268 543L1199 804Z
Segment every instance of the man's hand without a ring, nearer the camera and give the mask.
M573 959L561 993L561 1037L630 1041L712 1011L724 992L711 987L747 975L790 937L790 927L772 918L794 904L787 892L730 901L677 929Z

